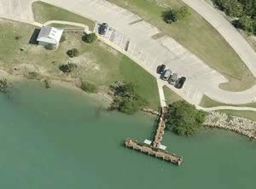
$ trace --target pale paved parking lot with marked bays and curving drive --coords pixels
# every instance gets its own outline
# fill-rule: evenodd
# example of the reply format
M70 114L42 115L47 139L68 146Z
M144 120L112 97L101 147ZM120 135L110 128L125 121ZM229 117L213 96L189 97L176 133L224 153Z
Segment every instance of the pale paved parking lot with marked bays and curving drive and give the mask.
M31 3L33 0L0 0L1 14L10 18L32 20ZM177 72L179 76L187 77L183 89L174 89L184 99L199 104L203 94L214 100L225 103L248 103L255 99L256 87L242 92L227 92L218 88L227 79L212 70L206 63L184 49L172 37L153 36L160 31L136 14L122 9L106 0L43 0L46 3L67 9L99 23L108 22L111 30L104 36L109 42L125 49L125 53L136 60L137 64L145 68L154 77L156 68L166 64L166 68ZM162 83L162 82L161 82Z

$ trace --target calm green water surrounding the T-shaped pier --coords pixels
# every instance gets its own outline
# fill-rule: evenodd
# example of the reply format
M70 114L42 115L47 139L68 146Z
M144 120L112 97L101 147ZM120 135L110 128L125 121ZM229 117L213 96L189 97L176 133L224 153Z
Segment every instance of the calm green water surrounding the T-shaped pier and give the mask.
M122 146L152 136L154 117L104 111L68 89L16 83L0 95L0 115L0 188L255 187L256 142L230 132L166 132L164 145L184 157L177 167Z

